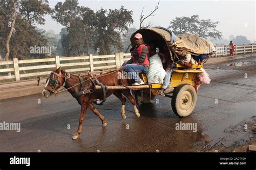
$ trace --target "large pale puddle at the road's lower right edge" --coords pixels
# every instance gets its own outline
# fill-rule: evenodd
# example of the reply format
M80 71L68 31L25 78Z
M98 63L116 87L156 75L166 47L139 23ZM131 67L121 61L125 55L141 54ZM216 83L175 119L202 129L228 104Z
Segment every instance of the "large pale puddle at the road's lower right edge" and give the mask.
M212 126L211 128L202 133L202 135L207 134L210 136L210 145L214 145L221 138L223 138L225 136L225 133L228 133L228 127L238 125L242 120L248 119L250 117L253 117L253 115L256 115L256 101L236 103L231 106L230 110L234 113L233 117L221 122L221 124ZM225 131L226 128L227 132Z

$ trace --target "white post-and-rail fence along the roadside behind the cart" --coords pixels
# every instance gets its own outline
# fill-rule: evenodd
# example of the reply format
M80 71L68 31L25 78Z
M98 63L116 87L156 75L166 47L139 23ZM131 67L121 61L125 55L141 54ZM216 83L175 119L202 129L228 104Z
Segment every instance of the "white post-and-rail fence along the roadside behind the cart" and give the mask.
M215 57L228 56L229 46L217 46ZM234 55L256 52L256 44L235 46ZM104 69L118 69L124 61L131 58L130 53L116 53L104 56L59 57L43 59L18 60L0 62L0 80L19 81L23 78L42 77L50 74L59 66L67 72L95 72ZM105 60L106 59L106 60ZM9 69L1 69L9 65Z

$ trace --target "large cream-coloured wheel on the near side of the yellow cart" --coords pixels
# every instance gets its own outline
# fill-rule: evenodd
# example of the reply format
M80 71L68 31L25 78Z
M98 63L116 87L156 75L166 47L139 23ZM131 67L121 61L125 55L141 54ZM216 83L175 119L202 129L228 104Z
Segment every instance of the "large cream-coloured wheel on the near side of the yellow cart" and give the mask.
M174 89L172 95L172 110L180 117L190 115L197 104L197 92L189 84L183 84Z

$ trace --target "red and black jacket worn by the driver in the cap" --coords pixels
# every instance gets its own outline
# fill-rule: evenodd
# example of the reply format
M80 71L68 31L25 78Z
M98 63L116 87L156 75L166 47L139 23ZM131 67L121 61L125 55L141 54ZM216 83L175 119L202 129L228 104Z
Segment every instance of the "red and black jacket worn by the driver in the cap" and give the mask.
M132 48L130 51L132 58L126 64L150 65L149 47L147 47L145 44L139 44L135 48Z

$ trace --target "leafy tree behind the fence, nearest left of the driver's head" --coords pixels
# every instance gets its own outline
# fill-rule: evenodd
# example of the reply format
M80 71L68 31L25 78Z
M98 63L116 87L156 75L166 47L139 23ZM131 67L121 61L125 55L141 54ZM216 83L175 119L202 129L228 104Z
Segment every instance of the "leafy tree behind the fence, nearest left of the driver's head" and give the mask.
M84 21L87 21L87 16L84 16ZM112 53L111 47L113 46L118 51L123 51L122 33L127 31L133 23L132 11L124 9L107 10L100 9L95 12L92 22L93 29L96 32L95 49L100 55Z

